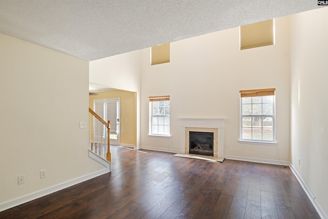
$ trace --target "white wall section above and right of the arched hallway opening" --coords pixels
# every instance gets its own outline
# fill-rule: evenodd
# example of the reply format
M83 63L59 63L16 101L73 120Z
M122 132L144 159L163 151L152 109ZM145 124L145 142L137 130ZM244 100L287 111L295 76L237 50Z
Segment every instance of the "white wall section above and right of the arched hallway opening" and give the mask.
M140 146L140 50L101 58L89 63L89 82L137 92L137 147Z

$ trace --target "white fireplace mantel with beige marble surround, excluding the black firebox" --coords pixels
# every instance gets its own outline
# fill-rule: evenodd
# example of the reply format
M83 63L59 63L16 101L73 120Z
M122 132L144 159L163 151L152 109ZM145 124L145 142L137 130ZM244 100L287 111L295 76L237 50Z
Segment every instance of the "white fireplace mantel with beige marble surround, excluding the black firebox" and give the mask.
M225 118L179 118L180 153L189 154L189 132L213 132L213 156L224 157Z

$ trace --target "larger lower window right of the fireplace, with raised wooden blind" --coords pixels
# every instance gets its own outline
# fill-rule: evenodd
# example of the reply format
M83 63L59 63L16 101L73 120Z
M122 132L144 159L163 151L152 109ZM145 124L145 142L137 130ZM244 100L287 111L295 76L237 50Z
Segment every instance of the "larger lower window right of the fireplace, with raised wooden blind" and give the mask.
M275 88L240 91L240 140L275 142Z

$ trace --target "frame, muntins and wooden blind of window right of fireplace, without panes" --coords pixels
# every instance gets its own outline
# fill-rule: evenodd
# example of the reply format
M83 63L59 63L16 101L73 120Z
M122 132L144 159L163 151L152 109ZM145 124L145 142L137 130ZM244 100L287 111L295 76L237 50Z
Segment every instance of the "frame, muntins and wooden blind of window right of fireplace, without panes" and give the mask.
M275 88L270 88L270 89L258 89L258 90L241 90L240 91L240 130L239 130L239 142L251 142L251 143L264 143L264 144L275 144L276 143L276 94L275 94ZM261 112L261 114L253 115L253 112L251 114L242 114L242 99L244 97L263 97L263 96L273 96L273 109L272 109L272 115L271 114L263 114L263 112ZM252 98L253 101L253 98ZM259 104L259 103L251 103L251 108L253 109L253 104ZM261 107L263 109L263 99L261 99ZM265 103L264 103L265 104ZM261 122L261 138L262 139L253 139L253 133L252 133L252 138L243 138L242 134L242 128L243 128L243 117L251 117L251 123L253 123L253 117L261 117L262 122L263 122L263 117L272 117L272 140L263 140L263 123ZM251 124L251 128L253 129L253 124ZM253 131L253 130L252 130Z

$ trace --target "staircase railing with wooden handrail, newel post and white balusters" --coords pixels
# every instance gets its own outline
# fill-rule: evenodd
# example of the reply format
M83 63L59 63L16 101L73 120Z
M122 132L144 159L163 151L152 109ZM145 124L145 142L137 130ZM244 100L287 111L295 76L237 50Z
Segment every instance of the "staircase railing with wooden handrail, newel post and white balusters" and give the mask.
M103 157L107 161L111 162L110 153L110 121L105 122L97 113L89 108L90 112L90 150ZM92 128L91 128L92 127ZM106 147L107 138L107 153L106 158L101 154L100 147ZM91 143L92 140L92 143ZM97 149L96 149L97 146ZM104 152L105 155L105 152Z

